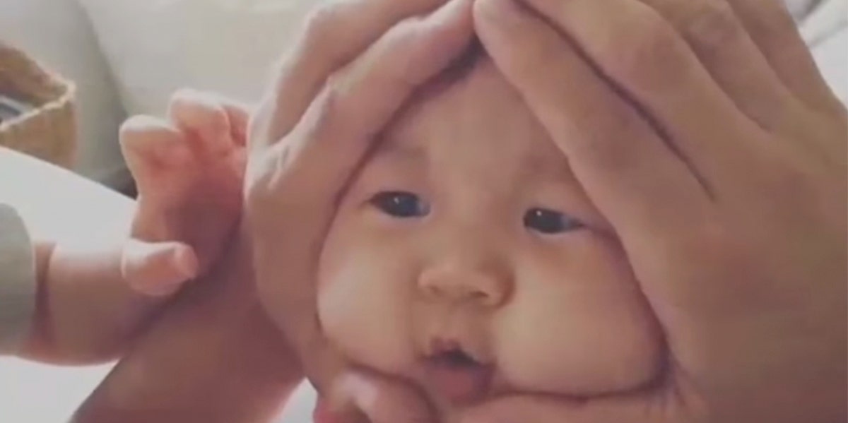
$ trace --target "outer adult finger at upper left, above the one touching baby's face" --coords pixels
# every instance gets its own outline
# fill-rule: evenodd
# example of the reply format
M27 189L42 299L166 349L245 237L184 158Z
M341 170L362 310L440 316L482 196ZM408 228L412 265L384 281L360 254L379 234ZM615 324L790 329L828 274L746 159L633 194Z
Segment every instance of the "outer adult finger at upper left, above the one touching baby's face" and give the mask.
M349 63L404 18L431 11L446 0L335 0L307 19L303 36L287 54L280 75L254 119L257 147L278 142L300 120L326 78Z

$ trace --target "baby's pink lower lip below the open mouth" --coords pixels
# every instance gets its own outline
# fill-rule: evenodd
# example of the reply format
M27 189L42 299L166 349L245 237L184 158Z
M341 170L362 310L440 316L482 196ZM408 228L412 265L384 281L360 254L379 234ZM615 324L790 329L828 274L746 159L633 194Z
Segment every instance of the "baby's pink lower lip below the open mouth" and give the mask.
M455 365L439 359L427 359L422 372L425 385L454 404L482 399L493 375L492 365Z

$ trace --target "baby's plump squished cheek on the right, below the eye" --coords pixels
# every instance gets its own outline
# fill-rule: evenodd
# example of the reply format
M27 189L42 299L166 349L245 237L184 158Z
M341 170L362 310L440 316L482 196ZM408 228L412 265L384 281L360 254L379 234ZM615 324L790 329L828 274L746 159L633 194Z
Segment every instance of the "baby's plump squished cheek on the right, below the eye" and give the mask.
M593 238L564 255L528 265L533 271L522 274L496 321L505 378L516 388L572 395L653 381L664 344L621 254Z

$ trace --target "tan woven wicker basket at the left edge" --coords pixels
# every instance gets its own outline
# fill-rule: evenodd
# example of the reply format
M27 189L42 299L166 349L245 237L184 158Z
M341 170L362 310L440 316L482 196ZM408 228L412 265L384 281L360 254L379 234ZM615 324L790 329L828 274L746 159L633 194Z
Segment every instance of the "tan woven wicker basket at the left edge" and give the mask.
M0 146L71 168L76 149L75 86L0 42L0 94L33 108L0 122Z

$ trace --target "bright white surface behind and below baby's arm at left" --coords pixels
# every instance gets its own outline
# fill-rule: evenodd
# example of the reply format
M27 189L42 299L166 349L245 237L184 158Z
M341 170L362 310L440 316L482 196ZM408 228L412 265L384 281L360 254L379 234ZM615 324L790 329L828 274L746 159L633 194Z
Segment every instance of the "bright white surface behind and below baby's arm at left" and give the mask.
M0 147L0 202L33 237L71 244L126 233L132 201L67 170ZM0 422L64 422L111 365L57 367L0 358ZM301 387L279 422L310 421L315 392Z

